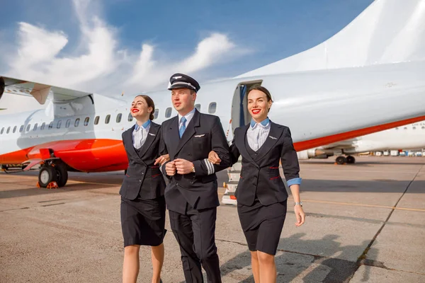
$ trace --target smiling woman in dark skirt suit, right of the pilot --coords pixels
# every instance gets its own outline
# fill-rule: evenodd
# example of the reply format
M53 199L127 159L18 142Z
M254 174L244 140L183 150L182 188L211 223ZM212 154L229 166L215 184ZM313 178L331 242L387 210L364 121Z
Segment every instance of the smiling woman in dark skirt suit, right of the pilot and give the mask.
M295 226L305 221L300 202L300 167L290 129L268 119L273 100L263 86L248 93L249 125L234 131L230 146L232 163L242 155L242 171L235 195L237 212L248 248L251 251L255 282L276 282L274 256L278 248L287 210L288 192L279 173L279 160L294 198ZM211 151L209 160L220 163Z

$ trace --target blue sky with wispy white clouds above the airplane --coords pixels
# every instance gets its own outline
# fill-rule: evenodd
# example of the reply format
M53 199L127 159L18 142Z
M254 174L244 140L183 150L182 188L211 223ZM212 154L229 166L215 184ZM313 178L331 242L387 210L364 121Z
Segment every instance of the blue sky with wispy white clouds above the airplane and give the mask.
M231 78L327 40L372 2L0 0L0 76L108 95L164 89L175 72Z

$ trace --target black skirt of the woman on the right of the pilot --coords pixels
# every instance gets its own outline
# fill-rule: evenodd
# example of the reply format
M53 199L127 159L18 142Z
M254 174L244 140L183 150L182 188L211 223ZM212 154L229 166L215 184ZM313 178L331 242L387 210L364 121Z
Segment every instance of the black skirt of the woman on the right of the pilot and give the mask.
M237 213L249 250L276 255L286 209L287 200L267 206L259 200L251 206L238 204Z

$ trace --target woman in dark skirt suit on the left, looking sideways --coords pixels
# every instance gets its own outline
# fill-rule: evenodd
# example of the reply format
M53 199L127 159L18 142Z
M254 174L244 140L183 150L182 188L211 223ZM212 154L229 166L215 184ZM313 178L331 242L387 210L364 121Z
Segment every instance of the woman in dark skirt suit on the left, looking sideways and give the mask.
M152 283L161 281L164 262L165 181L159 166L168 161L159 152L161 126L152 122L155 105L149 96L136 96L131 115L136 124L123 132L128 156L121 195L121 227L124 238L123 282L137 282L140 246L151 246Z

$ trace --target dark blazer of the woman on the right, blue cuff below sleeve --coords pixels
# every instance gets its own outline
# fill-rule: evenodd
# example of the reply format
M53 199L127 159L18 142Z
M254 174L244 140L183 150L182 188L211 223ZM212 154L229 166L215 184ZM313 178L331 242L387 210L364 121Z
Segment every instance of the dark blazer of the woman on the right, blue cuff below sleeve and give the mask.
M279 173L279 160L282 161L286 180L299 178L300 166L294 149L290 129L271 122L270 132L264 144L251 156L246 147L246 132L249 125L234 130L230 146L232 163L242 155L242 170L235 196L238 204L252 205L255 197L263 205L283 202L288 198Z

